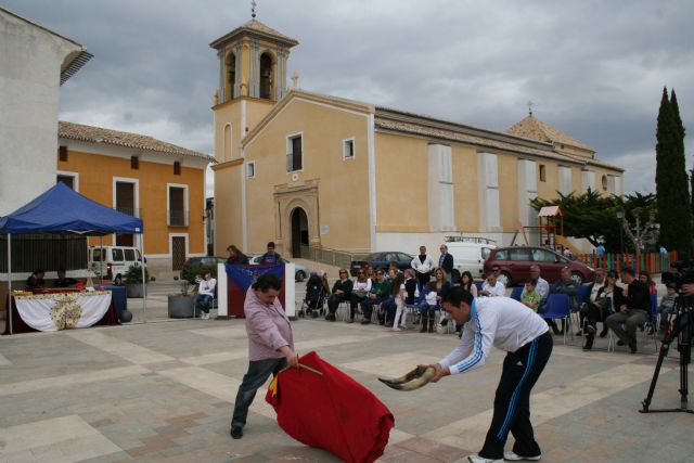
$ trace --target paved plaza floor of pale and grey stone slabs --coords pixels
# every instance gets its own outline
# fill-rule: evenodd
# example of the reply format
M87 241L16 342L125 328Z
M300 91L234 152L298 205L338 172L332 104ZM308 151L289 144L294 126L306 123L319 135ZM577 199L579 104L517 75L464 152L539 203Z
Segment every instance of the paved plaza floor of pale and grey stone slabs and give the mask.
M247 365L244 322L168 321L163 301L171 287L151 285L147 323L0 337L0 462L338 461L286 436L266 389L244 438L229 437ZM129 307L141 320L138 303ZM293 326L299 353L316 350L391 410L396 427L381 461L466 461L479 450L501 352L480 370L402 393L376 377L437 361L454 347L454 335L305 319ZM646 353L632 356L604 344L583 352L580 338L564 346L555 336L531 406L542 461L691 461L694 416L638 412L656 360L647 340L640 334ZM679 406L678 387L671 355L653 407Z

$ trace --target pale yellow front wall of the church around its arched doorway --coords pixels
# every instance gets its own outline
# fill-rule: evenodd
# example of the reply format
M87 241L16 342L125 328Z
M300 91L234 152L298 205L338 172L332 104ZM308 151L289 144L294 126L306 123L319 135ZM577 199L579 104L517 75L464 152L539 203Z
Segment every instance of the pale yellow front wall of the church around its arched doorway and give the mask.
M299 187L310 179L320 179L319 226L329 228L321 244L370 247L367 125L365 115L294 99L262 128L245 147L245 160L256 163L256 178L246 180L246 250L265 250L275 237L274 185ZM286 172L286 137L298 132L303 132L304 169L298 181L292 181ZM343 160L343 140L351 137L356 156ZM283 230L282 239L288 245L288 230Z

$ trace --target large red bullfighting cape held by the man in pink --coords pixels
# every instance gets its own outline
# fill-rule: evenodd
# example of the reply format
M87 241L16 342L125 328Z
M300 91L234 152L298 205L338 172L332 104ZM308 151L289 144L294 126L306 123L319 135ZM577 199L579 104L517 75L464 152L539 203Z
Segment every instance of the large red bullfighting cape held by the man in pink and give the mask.
M299 362L307 369L282 371L266 400L278 424L301 443L325 449L346 462L373 462L388 443L395 419L386 406L345 373L311 351Z

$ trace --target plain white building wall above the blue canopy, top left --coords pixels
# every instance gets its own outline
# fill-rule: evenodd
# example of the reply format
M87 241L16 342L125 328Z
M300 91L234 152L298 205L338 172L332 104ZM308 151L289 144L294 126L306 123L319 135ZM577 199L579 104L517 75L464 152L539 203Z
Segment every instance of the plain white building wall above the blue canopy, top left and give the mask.
M61 66L80 50L0 9L0 216L55 184Z

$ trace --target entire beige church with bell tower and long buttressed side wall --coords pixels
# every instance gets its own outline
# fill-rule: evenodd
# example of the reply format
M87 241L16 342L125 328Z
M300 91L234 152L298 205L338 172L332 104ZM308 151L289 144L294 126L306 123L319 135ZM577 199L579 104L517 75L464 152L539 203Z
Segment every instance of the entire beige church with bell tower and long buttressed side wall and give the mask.
M507 244L537 224L536 196L622 194L622 169L531 115L497 132L287 91L296 44L256 20L211 43L216 254L270 240L286 256L300 244L415 253L461 233Z

